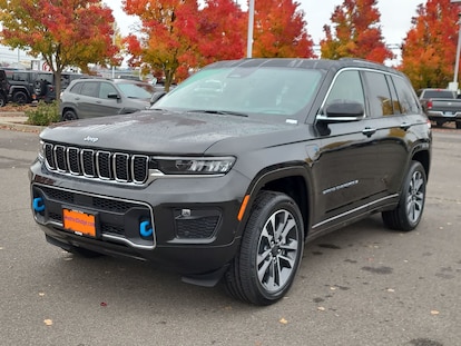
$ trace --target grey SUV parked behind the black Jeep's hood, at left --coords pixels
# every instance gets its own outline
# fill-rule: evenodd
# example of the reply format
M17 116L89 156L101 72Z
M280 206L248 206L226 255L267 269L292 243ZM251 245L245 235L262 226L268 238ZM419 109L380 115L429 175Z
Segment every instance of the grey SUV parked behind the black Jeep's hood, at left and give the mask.
M61 120L133 113L150 107L154 87L128 79L81 78L61 93Z

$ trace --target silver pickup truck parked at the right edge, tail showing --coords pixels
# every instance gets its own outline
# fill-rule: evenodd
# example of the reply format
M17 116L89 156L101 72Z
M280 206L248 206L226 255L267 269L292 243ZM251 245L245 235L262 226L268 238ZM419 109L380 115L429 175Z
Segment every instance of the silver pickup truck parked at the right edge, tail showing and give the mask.
M421 106L428 118L437 126L454 121L457 129L461 129L461 99L458 92L448 89L418 90Z

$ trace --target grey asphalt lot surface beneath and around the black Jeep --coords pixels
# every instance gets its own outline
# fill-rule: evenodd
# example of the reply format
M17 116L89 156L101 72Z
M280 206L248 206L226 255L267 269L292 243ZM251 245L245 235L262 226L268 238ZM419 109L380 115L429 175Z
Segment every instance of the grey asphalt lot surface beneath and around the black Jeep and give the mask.
M461 130L434 131L416 230L389 231L376 215L316 239L269 307L48 245L29 207L37 145L37 134L0 129L0 345L461 344Z

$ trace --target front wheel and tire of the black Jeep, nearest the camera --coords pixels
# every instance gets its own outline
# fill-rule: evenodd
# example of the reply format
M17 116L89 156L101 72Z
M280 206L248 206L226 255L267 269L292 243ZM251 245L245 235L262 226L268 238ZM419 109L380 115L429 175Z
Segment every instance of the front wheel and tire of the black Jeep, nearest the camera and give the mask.
M259 192L241 249L225 275L227 291L255 305L277 301L293 284L303 249L303 217L294 200L279 192Z

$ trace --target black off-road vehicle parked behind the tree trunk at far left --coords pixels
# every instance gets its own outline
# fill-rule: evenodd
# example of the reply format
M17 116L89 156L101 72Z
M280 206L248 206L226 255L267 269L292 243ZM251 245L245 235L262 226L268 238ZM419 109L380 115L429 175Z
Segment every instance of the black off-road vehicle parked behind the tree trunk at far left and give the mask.
M56 83L52 72L35 70L6 70L10 85L8 99L14 103L30 103L43 100L50 102L56 99ZM81 73L63 72L61 76L61 90L80 78Z

